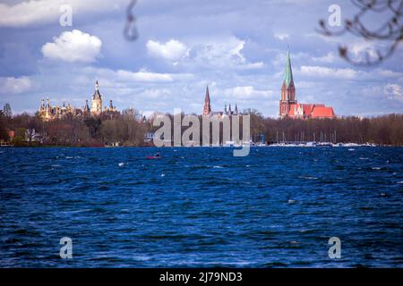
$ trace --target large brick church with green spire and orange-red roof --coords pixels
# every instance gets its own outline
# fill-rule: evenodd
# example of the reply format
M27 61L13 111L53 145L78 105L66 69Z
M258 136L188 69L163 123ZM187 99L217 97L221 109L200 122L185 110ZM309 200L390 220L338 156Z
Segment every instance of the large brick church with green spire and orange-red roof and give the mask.
M279 116L281 118L336 118L333 107L322 104L298 104L296 101L296 86L294 85L293 71L289 51L287 53L284 81L281 87L279 101Z

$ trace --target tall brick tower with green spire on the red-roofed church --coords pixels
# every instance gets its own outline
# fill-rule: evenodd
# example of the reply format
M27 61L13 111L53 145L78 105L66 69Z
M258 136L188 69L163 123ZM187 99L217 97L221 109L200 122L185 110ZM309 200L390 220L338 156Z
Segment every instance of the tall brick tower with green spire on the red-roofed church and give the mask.
M287 52L286 68L284 70L284 81L281 87L281 100L279 101L279 116L286 117L290 105L296 104L296 87L294 86L293 71L289 51Z

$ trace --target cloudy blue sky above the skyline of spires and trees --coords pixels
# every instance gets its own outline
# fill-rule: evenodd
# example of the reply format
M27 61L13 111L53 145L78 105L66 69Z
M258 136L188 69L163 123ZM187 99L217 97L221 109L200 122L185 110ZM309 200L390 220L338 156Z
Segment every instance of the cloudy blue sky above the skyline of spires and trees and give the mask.
M227 103L276 117L289 48L298 102L330 105L337 115L403 110L403 45L382 64L361 67L339 58L338 46L360 59L388 43L317 31L331 4L341 21L355 14L350 1L139 0L135 41L123 36L129 2L2 0L0 106L33 114L48 97L81 107L99 80L104 105L112 99L118 110L201 114L208 85L213 111ZM64 4L71 26L60 24Z

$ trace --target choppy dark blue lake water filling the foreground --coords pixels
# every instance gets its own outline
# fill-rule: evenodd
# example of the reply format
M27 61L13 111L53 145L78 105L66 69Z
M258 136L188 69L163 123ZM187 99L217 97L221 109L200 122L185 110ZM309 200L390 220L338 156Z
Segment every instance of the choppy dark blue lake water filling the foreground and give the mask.
M403 148L156 151L0 149L0 266L403 266Z

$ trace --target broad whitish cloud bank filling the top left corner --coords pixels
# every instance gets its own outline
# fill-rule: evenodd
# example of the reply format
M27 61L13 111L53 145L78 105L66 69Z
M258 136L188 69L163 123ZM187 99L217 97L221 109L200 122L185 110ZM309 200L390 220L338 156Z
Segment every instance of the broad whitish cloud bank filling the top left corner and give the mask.
M0 27L26 27L29 25L59 23L60 6L69 4L73 17L90 13L108 13L127 4L125 0L37 0L22 1L18 4L0 4Z

